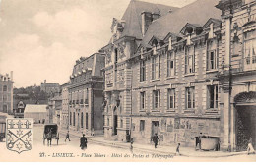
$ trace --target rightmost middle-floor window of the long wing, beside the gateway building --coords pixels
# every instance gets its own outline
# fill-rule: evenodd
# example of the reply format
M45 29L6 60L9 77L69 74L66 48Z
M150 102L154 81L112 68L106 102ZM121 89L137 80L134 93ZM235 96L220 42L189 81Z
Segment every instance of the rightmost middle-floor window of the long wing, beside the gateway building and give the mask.
M218 85L209 85L207 86L208 95L207 95L207 104L208 108L218 108Z

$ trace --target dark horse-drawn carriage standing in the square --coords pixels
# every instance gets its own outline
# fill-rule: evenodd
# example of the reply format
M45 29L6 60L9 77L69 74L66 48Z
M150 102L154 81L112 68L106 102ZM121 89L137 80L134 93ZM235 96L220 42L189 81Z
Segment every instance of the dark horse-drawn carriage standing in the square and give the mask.
M58 125L57 124L44 125L43 144L45 144L45 140L47 139L47 145L51 145L52 138L55 138L57 140L57 145L58 145L59 144Z

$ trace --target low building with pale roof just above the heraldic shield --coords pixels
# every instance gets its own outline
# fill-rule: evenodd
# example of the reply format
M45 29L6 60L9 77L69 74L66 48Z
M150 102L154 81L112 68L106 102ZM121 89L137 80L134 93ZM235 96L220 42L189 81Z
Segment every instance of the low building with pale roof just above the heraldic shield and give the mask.
M46 121L47 106L27 104L24 111L24 118L32 118L35 124L44 124Z

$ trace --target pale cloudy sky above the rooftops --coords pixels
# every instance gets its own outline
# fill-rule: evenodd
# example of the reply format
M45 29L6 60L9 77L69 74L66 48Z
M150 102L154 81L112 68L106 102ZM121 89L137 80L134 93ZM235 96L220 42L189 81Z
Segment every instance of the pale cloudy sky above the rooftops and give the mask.
M195 0L143 0L182 7ZM106 45L130 0L0 0L0 74L14 86L66 83L75 61Z

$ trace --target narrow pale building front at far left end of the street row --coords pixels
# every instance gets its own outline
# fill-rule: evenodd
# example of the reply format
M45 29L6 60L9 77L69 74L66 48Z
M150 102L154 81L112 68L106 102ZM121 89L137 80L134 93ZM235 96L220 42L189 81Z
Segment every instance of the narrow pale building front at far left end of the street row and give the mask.
M61 109L61 127L68 129L69 126L69 82L61 85L62 109Z

